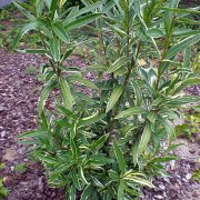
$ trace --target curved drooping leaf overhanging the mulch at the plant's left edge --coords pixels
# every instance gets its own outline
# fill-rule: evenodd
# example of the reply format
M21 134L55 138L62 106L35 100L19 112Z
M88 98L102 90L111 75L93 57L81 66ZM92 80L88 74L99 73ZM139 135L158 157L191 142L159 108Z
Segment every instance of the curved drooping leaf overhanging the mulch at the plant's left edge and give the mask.
M39 114L42 113L44 103L46 103L51 90L56 87L56 84L57 84L57 81L54 81L54 80L50 80L49 82L47 82L44 84L43 90L39 98L39 102L38 102L38 113Z

